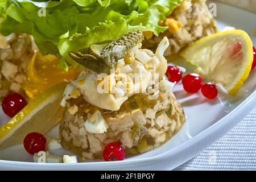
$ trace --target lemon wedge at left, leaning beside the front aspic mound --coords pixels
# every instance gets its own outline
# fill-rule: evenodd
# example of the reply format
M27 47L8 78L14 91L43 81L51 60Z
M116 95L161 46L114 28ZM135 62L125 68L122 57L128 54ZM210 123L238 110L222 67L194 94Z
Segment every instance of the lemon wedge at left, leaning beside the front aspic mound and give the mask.
M62 118L60 106L67 82L61 82L29 102L0 128L0 149L21 144L28 133L46 133Z

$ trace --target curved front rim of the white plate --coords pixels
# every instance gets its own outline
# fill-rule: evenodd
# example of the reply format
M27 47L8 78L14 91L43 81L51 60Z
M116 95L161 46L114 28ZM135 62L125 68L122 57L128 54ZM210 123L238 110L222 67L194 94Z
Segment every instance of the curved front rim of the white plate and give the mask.
M179 146L176 146L172 148L171 150L168 150L166 152L163 152L162 154L153 156L153 157L146 157L142 159L130 159L130 160L124 160L124 161L115 161L115 162L87 162L87 163L34 163L34 162L18 162L18 161L11 161L11 160L0 160L0 168L9 166L10 168L22 168L24 166L27 166L28 169L40 169L40 167L48 167L49 169L53 169L52 167L58 167L62 169L71 169L72 167L78 168L82 166L90 166L90 167L110 167L110 166L117 166L117 165L127 165L127 164L135 164L135 163L148 163L148 162L160 162L161 160L168 158L170 156L174 156L179 152L184 151L185 149L192 148L195 146L196 143L199 143L201 140L204 140L207 137L212 137L214 134L216 134L216 131L221 129L221 127L226 128L225 130L231 130L233 128L233 125L236 125L238 122L241 121L241 119L237 119L237 121L233 122L233 125L226 125L225 121L232 119L234 117L237 117L237 115L240 115L242 118L245 117L249 111L253 110L253 107L249 107L249 105L253 105L256 103L256 90L254 88L254 91L249 94L243 100L237 107L235 107L230 113L225 115L223 118L219 119L216 123L214 123L212 126L208 127L201 133L195 135L195 137L188 139L184 143L181 143ZM255 105L255 104L254 104ZM242 113L242 111L245 111ZM242 113L242 114L241 114ZM225 125L225 126L224 126ZM197 155L197 151L202 151L205 148L209 147L212 143L214 143L216 140L222 137L222 135L225 135L226 132L219 135L219 137L214 138L211 142L208 142L207 144L204 144L204 146L199 147L200 149L194 150L193 153L186 159L184 159L184 162L186 162L189 159L192 159L193 156ZM192 157L191 157L192 156ZM175 167L179 166L180 164L174 165ZM168 169L174 169L175 167L171 166ZM36 167L36 168L34 168ZM65 167L65 168L63 168ZM67 168L66 168L67 167ZM122 170L122 169L121 169Z

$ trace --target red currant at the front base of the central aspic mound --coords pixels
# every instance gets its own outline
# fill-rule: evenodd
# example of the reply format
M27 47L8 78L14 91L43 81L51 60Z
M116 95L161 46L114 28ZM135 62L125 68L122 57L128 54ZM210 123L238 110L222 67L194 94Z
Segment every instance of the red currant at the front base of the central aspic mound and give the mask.
M123 160L125 159L125 150L118 143L109 143L103 151L105 161Z

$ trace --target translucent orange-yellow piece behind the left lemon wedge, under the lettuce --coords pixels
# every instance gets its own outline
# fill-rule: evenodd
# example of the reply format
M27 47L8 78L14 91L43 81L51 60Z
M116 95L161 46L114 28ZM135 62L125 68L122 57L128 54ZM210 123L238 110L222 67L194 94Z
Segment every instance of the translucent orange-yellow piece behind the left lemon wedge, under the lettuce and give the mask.
M69 67L68 72L58 69L59 59L54 55L43 56L40 51L35 52L28 64L26 82L23 88L29 98L34 99L53 85L63 81L75 80L81 69Z

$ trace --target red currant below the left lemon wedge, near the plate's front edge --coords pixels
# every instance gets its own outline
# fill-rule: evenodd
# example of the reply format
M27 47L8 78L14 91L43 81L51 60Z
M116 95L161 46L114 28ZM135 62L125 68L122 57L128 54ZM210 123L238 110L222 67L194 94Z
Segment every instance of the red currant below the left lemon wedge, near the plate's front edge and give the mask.
M24 138L24 148L28 153L34 155L39 151L46 150L46 138L40 133L30 133Z

